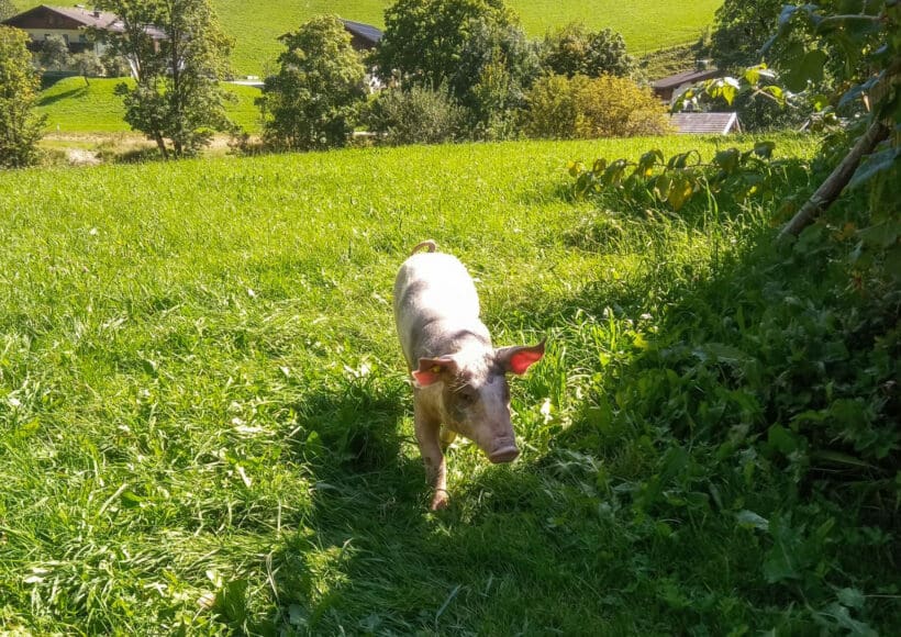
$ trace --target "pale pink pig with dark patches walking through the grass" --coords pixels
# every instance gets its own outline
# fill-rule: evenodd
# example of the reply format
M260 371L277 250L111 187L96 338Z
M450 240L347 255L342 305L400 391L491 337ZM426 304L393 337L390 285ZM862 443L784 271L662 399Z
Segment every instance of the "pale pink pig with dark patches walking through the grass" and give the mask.
M505 375L525 373L544 356L545 342L494 349L479 318L472 279L459 260L436 252L431 239L413 248L398 271L394 322L412 377L416 442L436 511L447 505L442 443L446 446L460 434L496 463L520 455Z

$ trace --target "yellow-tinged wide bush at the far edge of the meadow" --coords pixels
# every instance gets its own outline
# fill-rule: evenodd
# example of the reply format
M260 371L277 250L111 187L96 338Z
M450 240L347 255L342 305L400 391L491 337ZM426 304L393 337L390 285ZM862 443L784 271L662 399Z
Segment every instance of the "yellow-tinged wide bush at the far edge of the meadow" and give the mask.
M590 139L663 135L667 110L650 89L613 76L546 76L529 92L525 131L534 137Z

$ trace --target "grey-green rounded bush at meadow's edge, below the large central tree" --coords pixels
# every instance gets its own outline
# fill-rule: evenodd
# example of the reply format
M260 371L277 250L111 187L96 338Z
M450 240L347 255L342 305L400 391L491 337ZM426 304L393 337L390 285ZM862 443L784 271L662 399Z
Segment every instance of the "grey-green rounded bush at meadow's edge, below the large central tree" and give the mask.
M459 138L466 110L445 89L388 89L369 104L366 123L380 143L441 144Z

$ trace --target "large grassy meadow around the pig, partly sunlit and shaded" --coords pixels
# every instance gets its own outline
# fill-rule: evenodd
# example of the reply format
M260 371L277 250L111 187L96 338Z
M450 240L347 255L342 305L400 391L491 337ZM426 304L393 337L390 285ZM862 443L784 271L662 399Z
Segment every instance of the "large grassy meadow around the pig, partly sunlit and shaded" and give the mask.
M741 446L777 381L733 377L754 356L738 347L796 308L761 291L815 286L816 264L774 265L760 206L647 217L569 197L572 159L727 142L0 174L0 627L891 634L878 524L839 550L844 518ZM469 267L497 344L548 338L511 383L521 459L458 440L437 514L390 310L426 237Z

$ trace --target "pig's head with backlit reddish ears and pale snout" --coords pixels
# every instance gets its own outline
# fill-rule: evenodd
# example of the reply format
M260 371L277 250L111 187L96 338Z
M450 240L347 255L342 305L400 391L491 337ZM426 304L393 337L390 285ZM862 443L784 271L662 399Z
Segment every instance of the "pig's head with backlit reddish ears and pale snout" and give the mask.
M520 450L510 422L507 375L525 373L543 356L544 342L475 356L458 353L420 358L412 373L420 389L442 383L436 406L448 428L476 443L492 462L512 462Z

